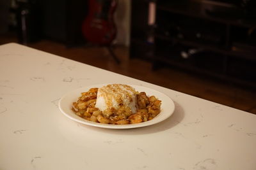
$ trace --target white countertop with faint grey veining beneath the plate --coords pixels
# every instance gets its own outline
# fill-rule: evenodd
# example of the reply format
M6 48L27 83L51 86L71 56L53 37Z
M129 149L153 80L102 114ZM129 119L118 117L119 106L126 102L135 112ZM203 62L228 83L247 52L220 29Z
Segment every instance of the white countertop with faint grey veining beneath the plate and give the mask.
M138 129L81 125L63 94L125 83L163 92L172 117ZM0 169L256 169L256 115L10 43L0 46Z

